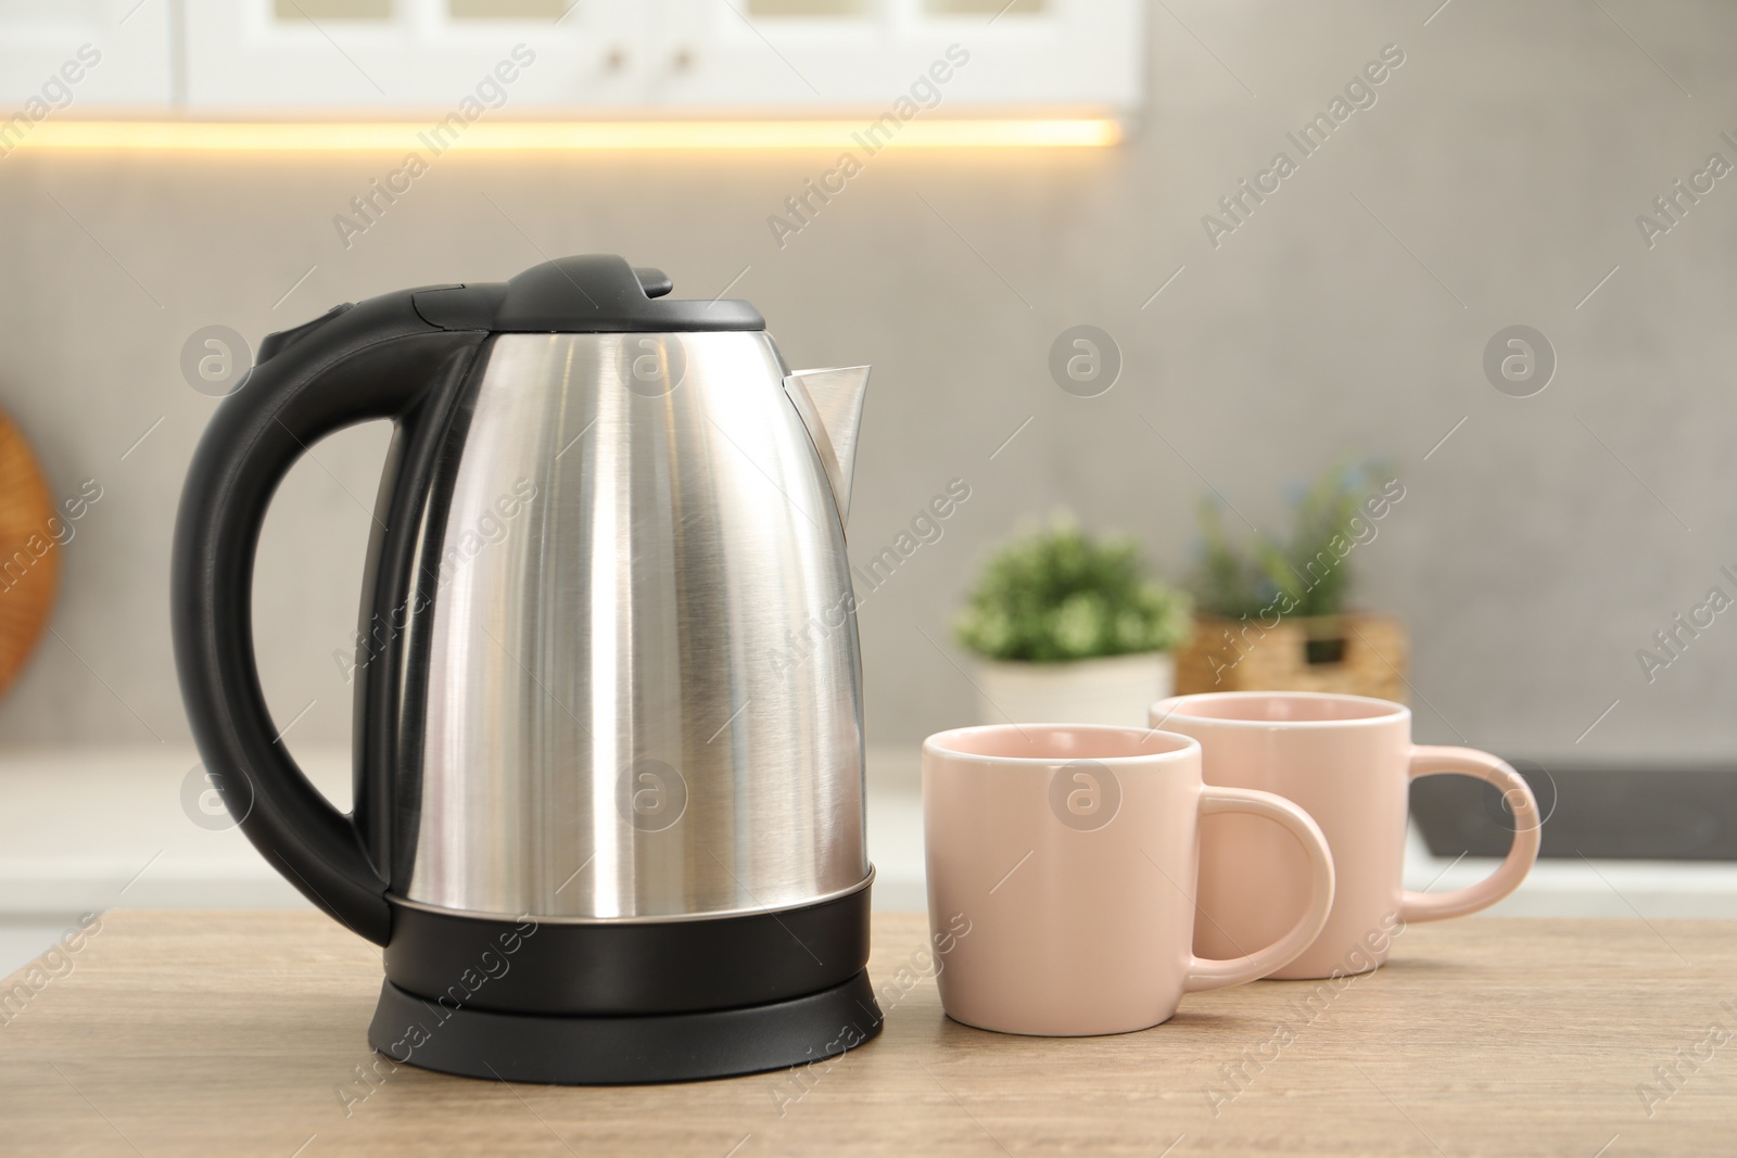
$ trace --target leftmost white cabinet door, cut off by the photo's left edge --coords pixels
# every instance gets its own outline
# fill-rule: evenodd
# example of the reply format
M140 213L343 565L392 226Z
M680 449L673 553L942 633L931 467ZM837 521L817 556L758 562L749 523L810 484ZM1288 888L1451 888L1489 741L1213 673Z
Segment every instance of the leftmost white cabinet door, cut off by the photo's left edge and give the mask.
M0 116L89 118L170 99L162 0L0 0Z

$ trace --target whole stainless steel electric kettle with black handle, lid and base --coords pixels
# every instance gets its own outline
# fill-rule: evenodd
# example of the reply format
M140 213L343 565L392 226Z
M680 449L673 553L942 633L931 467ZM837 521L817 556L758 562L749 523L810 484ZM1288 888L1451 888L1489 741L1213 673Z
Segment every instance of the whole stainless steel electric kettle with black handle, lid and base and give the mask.
M261 342L193 458L195 740L266 859L384 946L396 1063L669 1082L881 1028L844 554L868 368L792 373L750 304L669 292L589 255L339 306ZM368 418L396 429L344 814L266 708L252 582L285 472Z

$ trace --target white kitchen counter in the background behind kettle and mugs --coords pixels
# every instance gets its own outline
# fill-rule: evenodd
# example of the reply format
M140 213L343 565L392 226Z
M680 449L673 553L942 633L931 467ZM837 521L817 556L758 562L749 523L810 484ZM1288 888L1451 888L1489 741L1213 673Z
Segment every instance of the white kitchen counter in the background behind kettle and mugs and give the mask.
M307 745L295 759L347 807L349 750ZM0 969L38 953L75 915L104 908L306 908L228 816L200 811L191 747L0 752ZM874 905L926 905L917 745L868 748ZM1480 858L1436 858L1416 835L1409 889L1487 877ZM1497 917L1737 918L1737 863L1546 859Z

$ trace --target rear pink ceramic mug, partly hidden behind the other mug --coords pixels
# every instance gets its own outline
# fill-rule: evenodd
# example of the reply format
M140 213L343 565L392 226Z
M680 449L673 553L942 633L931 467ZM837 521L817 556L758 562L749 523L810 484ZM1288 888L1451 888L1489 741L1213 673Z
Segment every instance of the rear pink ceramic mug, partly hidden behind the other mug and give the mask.
M1337 870L1325 931L1275 977L1332 977L1376 969L1409 920L1489 908L1520 887L1537 859L1537 800L1520 774L1487 752L1410 741L1410 708L1388 700L1311 691L1221 691L1152 705L1152 726L1193 736L1205 783L1273 792L1315 818ZM1485 880L1454 892L1407 892L1405 819L1410 781L1457 773L1503 790L1515 819L1508 858ZM1221 816L1200 826L1204 953L1263 944L1282 931L1308 889L1308 865L1259 825Z

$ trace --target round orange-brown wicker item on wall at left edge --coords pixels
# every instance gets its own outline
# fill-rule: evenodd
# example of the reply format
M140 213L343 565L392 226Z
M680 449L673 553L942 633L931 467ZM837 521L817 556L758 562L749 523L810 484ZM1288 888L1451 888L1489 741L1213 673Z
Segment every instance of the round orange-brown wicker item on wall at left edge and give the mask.
M61 575L59 524L30 443L0 413L0 693L36 648ZM64 533L64 531L63 531Z

